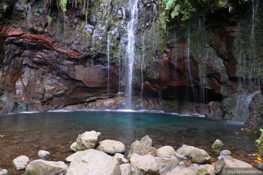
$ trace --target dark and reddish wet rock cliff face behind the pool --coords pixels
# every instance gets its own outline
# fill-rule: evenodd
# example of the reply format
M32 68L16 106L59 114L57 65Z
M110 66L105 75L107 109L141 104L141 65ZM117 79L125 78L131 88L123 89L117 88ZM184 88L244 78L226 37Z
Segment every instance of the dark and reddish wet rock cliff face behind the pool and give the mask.
M226 2L226 8L196 5L189 21L170 22L164 33L158 1L138 1L133 108L178 111L179 103L195 102L208 110L208 102L259 89L262 2L243 9ZM0 11L1 113L125 108L132 3L92 1L86 19L71 6L61 17L56 5L44 11L43 1L5 4L9 8ZM198 108L190 111L205 113Z

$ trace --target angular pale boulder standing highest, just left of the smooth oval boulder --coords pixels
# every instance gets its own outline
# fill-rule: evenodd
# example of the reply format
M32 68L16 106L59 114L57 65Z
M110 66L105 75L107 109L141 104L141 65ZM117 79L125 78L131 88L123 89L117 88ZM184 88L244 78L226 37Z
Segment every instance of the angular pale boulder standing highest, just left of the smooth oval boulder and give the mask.
M86 149L95 149L99 145L101 133L96 131L86 131L79 134L77 141L74 142L70 148L74 151L83 151Z

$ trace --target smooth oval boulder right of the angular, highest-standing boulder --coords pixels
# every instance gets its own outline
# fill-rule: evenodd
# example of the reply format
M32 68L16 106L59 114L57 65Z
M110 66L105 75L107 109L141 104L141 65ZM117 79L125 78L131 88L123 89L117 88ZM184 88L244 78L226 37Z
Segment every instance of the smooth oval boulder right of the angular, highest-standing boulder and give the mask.
M116 153L123 153L125 151L125 145L115 140L103 140L99 142L96 149L109 155L115 155Z

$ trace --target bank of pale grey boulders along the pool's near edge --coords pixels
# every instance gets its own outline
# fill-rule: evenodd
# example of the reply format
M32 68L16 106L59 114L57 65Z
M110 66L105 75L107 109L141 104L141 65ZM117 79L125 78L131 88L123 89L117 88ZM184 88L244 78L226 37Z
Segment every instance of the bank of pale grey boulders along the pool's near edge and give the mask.
M262 173L262 164L256 164L258 169L244 161L231 157L231 152L220 152L218 161L212 162L212 158L206 151L189 145L182 145L177 151L171 146L163 146L159 149L152 147L152 140L144 136L141 141L132 143L128 159L121 153L125 145L115 140L103 140L101 133L96 131L79 134L71 149L77 151L63 161L45 161L50 156L44 150L38 152L39 159L30 161L27 156L19 156L12 161L16 170L25 170L26 175L48 174L112 174L112 175L139 175L139 174L227 174L225 170L256 171ZM219 144L218 144L219 143ZM214 148L222 147L221 141L216 140ZM185 164L191 161L193 164ZM1 162L0 162L1 163ZM260 173L261 170L261 173ZM247 174L247 173L244 173ZM8 175L7 170L0 170L0 175Z

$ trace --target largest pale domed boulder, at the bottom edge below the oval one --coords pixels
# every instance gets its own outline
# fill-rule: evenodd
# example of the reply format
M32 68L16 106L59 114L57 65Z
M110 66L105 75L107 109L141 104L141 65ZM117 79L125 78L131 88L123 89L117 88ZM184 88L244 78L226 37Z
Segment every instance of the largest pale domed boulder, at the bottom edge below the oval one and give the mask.
M70 163L67 175L76 174L120 175L121 170L117 159L96 149L88 149L76 155Z

